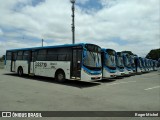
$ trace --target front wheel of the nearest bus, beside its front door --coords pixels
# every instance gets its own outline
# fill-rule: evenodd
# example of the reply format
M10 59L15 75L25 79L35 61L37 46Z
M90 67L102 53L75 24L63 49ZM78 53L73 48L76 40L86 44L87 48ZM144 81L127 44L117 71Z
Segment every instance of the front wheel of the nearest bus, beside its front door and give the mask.
M63 70L58 70L55 75L55 80L59 83L65 82L65 73Z

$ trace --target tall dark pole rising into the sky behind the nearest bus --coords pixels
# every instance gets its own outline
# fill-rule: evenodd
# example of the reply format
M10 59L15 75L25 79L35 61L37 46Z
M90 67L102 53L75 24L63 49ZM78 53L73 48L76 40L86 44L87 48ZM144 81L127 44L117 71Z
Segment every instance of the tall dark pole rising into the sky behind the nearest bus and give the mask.
M70 2L72 3L72 25L71 25L71 28L72 28L72 43L74 44L75 43L75 23L74 23L74 18L75 18L75 15L74 15L74 11L75 11L75 2L76 0L70 0Z

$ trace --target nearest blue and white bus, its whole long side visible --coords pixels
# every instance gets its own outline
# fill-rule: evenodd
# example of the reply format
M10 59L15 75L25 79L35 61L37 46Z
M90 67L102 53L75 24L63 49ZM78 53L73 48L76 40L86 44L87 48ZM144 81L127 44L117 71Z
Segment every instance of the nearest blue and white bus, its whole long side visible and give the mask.
M53 77L58 82L101 80L101 48L82 43L7 50L5 67L19 76Z

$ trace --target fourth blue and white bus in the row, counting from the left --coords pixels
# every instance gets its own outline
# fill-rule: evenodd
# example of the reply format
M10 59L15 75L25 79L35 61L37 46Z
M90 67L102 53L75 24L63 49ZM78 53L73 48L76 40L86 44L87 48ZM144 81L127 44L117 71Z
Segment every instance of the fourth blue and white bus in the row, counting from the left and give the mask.
M128 53L123 53L123 62L124 62L125 75L133 74L133 70L130 62L130 55Z

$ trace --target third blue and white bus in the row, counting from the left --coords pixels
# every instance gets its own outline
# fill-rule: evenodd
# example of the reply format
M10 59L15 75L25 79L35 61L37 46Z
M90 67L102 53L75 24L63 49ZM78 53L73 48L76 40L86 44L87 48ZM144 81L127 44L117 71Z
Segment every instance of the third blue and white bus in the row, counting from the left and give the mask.
M124 76L124 62L123 62L123 55L122 52L116 53L116 67L117 67L117 73L116 76Z

